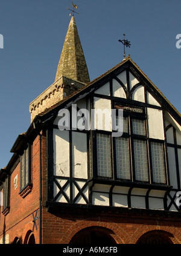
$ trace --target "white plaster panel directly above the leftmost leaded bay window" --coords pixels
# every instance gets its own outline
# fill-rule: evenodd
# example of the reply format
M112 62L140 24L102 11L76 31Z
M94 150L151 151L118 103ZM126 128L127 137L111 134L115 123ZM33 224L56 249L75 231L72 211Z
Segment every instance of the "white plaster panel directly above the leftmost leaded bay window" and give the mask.
M94 97L94 129L112 131L110 100Z

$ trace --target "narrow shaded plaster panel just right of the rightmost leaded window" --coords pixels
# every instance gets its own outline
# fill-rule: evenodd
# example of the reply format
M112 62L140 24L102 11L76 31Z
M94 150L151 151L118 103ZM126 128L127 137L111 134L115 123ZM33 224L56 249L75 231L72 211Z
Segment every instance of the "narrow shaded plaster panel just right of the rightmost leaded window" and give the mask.
M176 172L176 157L175 157L175 150L170 146L167 147L168 152L168 167L169 167L169 174L170 174L170 185L173 188L177 188L177 172Z

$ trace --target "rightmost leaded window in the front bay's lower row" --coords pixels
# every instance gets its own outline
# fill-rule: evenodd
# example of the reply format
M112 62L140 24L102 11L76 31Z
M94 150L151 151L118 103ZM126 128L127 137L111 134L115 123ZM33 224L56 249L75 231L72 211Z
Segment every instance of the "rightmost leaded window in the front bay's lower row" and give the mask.
M151 164L153 171L153 182L166 183L164 145L151 142Z

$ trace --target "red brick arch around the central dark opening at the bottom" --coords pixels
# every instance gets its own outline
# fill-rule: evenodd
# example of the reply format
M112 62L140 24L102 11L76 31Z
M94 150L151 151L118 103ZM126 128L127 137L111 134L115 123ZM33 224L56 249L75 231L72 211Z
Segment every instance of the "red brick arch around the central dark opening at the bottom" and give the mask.
M127 240L129 237L126 234L126 232L116 223L113 222L107 222L106 220L80 220L79 222L75 223L71 226L66 232L65 235L62 237L62 243L70 243L71 239L74 237L75 234L77 234L79 231L85 229L85 228L91 228L91 227L101 227L107 229L109 232L109 235L112 237L113 240L117 244L124 244L125 240ZM110 232L111 231L111 232Z

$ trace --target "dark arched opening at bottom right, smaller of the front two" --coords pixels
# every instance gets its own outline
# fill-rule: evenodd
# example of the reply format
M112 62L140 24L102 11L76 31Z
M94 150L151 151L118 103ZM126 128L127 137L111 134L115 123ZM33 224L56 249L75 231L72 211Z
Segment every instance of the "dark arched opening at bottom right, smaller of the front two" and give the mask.
M173 244L171 240L171 235L165 231L149 231L142 235L137 241L138 245L167 245Z

